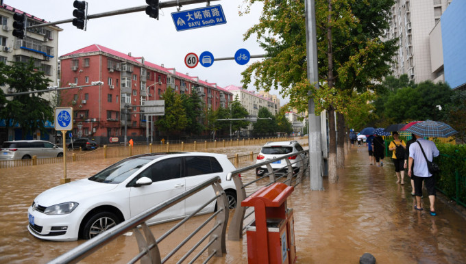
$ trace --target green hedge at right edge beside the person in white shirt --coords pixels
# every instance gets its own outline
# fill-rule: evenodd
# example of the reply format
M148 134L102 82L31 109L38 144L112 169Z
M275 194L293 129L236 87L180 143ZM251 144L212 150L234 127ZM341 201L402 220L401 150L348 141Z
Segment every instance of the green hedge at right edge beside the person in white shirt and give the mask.
M466 145L436 145L440 155L434 162L441 170L435 175L437 189L466 207Z

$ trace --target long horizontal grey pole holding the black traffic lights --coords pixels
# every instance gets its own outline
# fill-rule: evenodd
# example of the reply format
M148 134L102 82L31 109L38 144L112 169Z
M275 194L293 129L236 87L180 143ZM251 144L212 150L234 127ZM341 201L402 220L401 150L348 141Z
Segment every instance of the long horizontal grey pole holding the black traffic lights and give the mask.
M213 1L219 1L219 0L172 0L172 1L166 1L166 2L160 2L158 3L158 8L173 8L173 7L182 7L183 5L192 5L195 3L209 3ZM130 14L130 13L135 13L135 12L141 12L145 11L147 8L147 5L141 5L136 8L125 8L121 10L114 10L110 12L103 12L99 14L88 14L86 16L86 19L93 19L93 18L102 18L106 16L118 16L120 14ZM45 27L45 26L50 26L50 25L59 25L59 24L65 24L65 23L73 23L73 19L75 18L69 18L69 19L64 19L62 21L55 21L55 22L49 22L49 23L43 23L43 24L38 24L38 25L33 25L30 27L27 27L28 29L33 29L35 27Z

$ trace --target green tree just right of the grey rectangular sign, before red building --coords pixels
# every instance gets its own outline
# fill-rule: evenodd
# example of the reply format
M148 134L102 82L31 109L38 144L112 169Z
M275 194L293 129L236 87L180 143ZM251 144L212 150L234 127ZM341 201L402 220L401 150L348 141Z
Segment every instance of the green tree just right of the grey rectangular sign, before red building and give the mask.
M185 129L188 121L182 98L179 94L169 88L161 97L165 101L165 115L160 116L156 125L160 131L165 132L168 139L173 133L179 133L179 131Z

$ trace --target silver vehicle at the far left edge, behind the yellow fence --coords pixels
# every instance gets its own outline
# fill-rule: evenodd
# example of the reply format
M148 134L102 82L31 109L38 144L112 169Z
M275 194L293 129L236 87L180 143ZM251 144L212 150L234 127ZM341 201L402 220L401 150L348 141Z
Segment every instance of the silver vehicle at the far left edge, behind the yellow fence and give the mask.
M1 145L1 159L31 159L63 157L63 148L44 140L5 141Z

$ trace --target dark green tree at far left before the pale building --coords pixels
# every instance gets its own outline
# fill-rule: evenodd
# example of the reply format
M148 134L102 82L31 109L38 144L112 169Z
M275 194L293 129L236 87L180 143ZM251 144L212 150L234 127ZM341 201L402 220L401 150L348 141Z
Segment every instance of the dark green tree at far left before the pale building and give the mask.
M8 85L16 92L46 90L50 79L40 69L34 66L34 60L27 63L12 62L11 65L0 63L0 83ZM3 92L1 93L3 94ZM4 97L0 101L5 103ZM47 133L45 122L53 120L53 109L50 102L40 97L40 93L14 96L12 101L6 101L0 109L0 119L5 120L6 127L19 124L22 138L31 135L37 129Z

